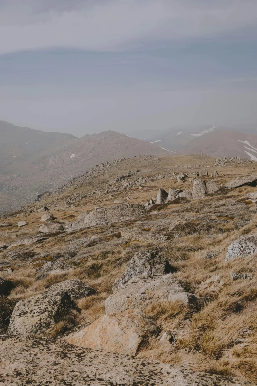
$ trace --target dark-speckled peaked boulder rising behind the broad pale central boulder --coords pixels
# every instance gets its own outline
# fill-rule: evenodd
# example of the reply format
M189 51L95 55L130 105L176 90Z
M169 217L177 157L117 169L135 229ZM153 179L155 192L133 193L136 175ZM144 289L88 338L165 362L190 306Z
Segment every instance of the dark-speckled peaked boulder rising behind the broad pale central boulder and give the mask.
M132 257L128 262L128 266L123 276L119 288L122 289L130 279L137 277L152 277L157 275L165 275L173 272L174 269L170 265L165 256L155 251L140 251Z

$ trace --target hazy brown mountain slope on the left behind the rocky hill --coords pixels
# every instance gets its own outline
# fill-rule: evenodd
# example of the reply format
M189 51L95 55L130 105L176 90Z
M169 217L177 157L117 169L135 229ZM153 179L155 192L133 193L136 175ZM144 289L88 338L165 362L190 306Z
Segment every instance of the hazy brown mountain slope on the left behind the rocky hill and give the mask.
M0 121L0 212L56 190L100 162L146 154L172 153L114 131L76 138Z

